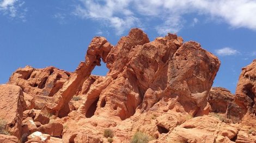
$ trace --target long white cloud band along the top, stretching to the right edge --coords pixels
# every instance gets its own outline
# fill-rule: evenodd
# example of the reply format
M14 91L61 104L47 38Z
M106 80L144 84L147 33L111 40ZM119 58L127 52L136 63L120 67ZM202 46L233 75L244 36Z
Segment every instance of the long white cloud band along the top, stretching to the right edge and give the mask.
M210 17L212 21L228 23L233 28L256 30L255 0L80 0L75 15L100 21L122 34L131 27L147 27L157 21L154 28L159 34L178 32L186 20L184 15ZM143 22L143 25L141 25ZM193 19L193 24L198 22ZM193 25L192 24L192 25ZM150 27L152 28L152 27Z

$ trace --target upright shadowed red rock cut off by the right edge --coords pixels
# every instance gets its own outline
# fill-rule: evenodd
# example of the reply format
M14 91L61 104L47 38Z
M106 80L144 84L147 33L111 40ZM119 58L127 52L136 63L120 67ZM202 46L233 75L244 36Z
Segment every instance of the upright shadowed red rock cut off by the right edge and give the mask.
M242 72L237 83L235 102L245 109L248 114L256 113L256 60L242 68ZM245 114L245 113L244 113Z

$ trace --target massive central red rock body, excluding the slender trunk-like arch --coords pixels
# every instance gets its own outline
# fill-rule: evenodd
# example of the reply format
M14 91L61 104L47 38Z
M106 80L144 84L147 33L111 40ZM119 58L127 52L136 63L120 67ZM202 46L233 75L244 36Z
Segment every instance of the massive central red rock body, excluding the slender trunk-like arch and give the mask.
M169 34L149 43L139 29L121 38L106 62L109 73L102 82L94 82L79 109L87 118L111 111L124 120L138 106L148 110L161 98L176 96L186 112L194 115L206 106L220 66L218 59L196 42L182 44L181 37Z

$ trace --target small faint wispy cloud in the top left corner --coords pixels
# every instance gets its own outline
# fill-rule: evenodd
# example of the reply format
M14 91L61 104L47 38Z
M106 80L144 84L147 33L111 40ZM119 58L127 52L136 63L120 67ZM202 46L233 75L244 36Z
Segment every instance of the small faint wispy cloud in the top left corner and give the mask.
M20 18L22 21L26 21L25 14L27 9L21 10L21 7L25 4L20 0L0 0L0 13L8 15L10 18Z

